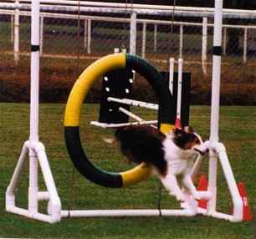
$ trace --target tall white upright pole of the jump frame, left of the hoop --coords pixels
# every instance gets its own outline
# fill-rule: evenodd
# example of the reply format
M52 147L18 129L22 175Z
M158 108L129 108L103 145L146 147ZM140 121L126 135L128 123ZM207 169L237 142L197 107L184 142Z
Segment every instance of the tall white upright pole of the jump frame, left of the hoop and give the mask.
M40 3L32 1L31 6L31 86L30 86L30 135L29 143L38 142L38 104L39 104L39 23ZM34 150L29 149L29 189L28 211L38 211L38 157Z

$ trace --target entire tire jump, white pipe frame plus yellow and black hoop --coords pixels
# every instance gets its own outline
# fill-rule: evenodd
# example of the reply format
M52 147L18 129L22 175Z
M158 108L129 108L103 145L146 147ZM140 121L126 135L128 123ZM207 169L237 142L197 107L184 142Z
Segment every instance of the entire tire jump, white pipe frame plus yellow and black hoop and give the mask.
M218 141L218 117L219 117L219 94L220 94L220 73L221 73L221 32L222 32L222 11L223 11L223 0L215 1L215 15L214 15L214 40L213 40L213 59L212 59L212 110L211 110L211 135L209 142L209 186L207 191L212 195L211 199L207 203L207 209L199 209L195 211L189 210L72 210L65 211L61 208L61 201L58 195L58 191L54 184L54 177L50 170L49 161L47 159L44 145L38 140L38 82L39 82L39 1L32 1L32 37L31 37L31 102L30 102L30 136L29 140L23 145L23 150L18 159L18 164L14 170L13 177L10 181L8 189L6 191L6 210L18 215L26 216L29 218L37 219L39 221L47 221L49 223L54 223L60 221L63 217L75 217L75 216L194 216L197 213L214 216L217 218L223 218L229 221L242 221L243 219L243 201L238 193L238 187L236 185L233 171L228 162L228 156L223 144ZM131 58L135 57L133 60ZM105 62L106 58L110 58L111 67L125 67L126 64L131 64L133 66L134 62L140 62L144 64L145 62L141 58L132 56L130 54L120 53L115 57L113 55L101 58L100 63ZM96 62L98 66L100 64ZM92 67L92 66L90 66ZM136 66L135 66L136 67ZM110 69L110 68L109 68ZM143 69L143 67L142 67ZM104 68L102 69L105 70ZM148 69L147 70L153 70ZM154 70L153 70L154 71ZM85 71L86 72L86 69ZM94 71L97 75L99 72ZM84 84L84 74L81 74L77 82L81 82L81 87L77 88L74 86L74 92L78 93L81 89L81 96L79 99L72 93L71 101L67 104L66 114L65 114L65 130L66 130L66 141L68 142L69 153L74 154L74 148L78 147L79 154L81 152L79 142L79 135L77 130L79 130L79 110L81 108L81 100L83 99L86 92L90 89L90 85ZM144 73L143 74L147 74ZM142 74L142 75L143 75ZM147 75L146 75L147 79ZM90 83L94 80L94 76L91 76ZM161 91L158 92L161 95L156 95L159 97L160 106L163 110L160 110L161 115L161 131L167 132L172 129L172 125L169 124L169 113L168 109L172 109L172 105L166 105L167 100L172 102L170 96L162 94L166 92L166 89L161 85L160 81L155 82L152 80L151 85L154 89L154 85L160 84ZM166 87L168 89L168 87ZM74 101L73 101L74 100ZM170 103L169 102L169 103ZM74 117L71 117L72 109L69 108L70 105L75 106ZM170 108L171 107L171 108ZM69 139L70 136L70 139ZM73 139L73 140L72 140ZM79 142L80 143L80 142ZM29 191L28 191L28 209L23 209L16 206L15 203L15 193L18 187L18 180L23 171L23 165L26 160L26 156L29 157ZM74 155L74 159L77 164L77 160ZM217 201L217 163L218 160L223 169L225 179L228 183L228 190L230 191L231 198L233 201L233 215L228 215L216 211L216 201ZM90 161L85 160L87 165L93 170L88 170L83 167L80 168L81 173L84 173L87 178L91 181L100 183L101 185L106 184L110 187L120 187L129 186L133 183L143 180L149 170L144 167L144 165L139 165L135 169L126 171L125 173L117 174L103 174L99 169L95 169ZM198 160L197 160L198 163ZM41 167L42 173L44 175L44 182L47 191L38 191L38 166ZM79 165L78 165L79 166ZM95 176L95 172L97 176ZM99 176L98 176L99 175ZM103 179L107 177L107 183ZM112 182L113 181L113 182ZM48 204L48 214L43 214L38 211L38 201L49 201Z

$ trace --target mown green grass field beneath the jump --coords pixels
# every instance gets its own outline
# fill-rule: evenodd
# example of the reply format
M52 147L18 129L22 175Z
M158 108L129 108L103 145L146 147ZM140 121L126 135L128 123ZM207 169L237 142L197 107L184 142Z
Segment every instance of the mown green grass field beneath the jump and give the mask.
M255 222L231 223L210 217L137 217L65 219L49 225L26 219L4 211L4 192L8 186L18 155L28 140L28 104L0 104L0 237L41 238L253 238ZM59 189L62 205L66 209L156 208L159 181L151 176L147 181L127 189L106 189L85 180L69 160L64 145L64 104L40 105L40 140L46 146L54 180ZM100 130L89 125L97 120L98 105L84 106L82 113L81 140L90 160L105 170L120 171L125 165L117 149L105 145L103 137L112 135L110 130ZM141 118L153 119L156 115L148 110L137 110ZM229 160L237 181L245 182L249 203L256 210L256 107L221 107L220 139L227 146ZM204 140L209 136L210 109L192 106L191 125ZM202 167L207 173L207 162ZM44 190L42 178L40 189ZM28 165L18 189L18 205L26 206L28 191ZM177 202L162 191L161 207L177 207ZM230 196L218 168L218 210L230 212ZM40 203L45 211L46 203Z

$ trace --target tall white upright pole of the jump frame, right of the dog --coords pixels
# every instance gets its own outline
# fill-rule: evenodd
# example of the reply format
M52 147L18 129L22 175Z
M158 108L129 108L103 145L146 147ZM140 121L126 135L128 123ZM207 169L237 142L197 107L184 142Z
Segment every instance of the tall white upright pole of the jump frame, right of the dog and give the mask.
M219 127L219 97L221 77L221 52L222 52L222 24L223 24L223 0L215 0L214 33L213 33L213 57L212 57L212 107L211 107L211 131L210 145L218 142ZM208 201L207 211L209 214L216 211L217 191L217 165L218 155L210 147L209 159L209 185L208 190L212 193L212 199Z

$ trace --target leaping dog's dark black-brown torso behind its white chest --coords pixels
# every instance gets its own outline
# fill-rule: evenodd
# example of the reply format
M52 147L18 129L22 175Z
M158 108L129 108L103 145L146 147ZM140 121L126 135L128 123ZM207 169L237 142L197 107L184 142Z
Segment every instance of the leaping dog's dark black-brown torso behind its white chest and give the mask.
M166 138L151 126L133 125L115 131L120 150L130 161L145 162L156 168L160 175L166 175L166 160L162 141Z

